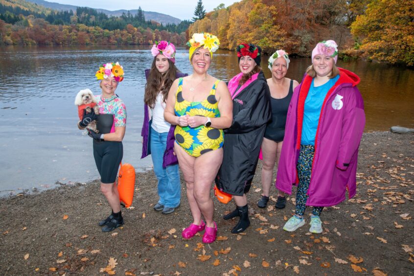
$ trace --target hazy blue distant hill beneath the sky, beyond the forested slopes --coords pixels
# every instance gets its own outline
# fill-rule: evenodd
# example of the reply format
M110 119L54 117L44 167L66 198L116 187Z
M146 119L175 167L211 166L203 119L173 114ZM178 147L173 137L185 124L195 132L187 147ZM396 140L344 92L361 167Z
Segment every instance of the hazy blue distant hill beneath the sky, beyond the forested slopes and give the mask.
M56 2L48 2L45 0L27 0L27 1L36 3L38 5L45 6L46 8L51 8L55 10L63 10L63 11L72 10L73 12L76 12L76 6L73 6L73 5L59 4ZM123 12L128 13L128 10L116 10L116 11L109 11L105 9L95 9L95 10L97 12L103 12L104 14L108 16L121 16ZM129 12L135 16L138 13L138 9L130 10ZM144 11L144 16L145 16L145 20L154 20L159 23L162 23L163 25L167 23L178 25L181 22L181 20L178 18L169 16L166 14L158 13L158 12Z

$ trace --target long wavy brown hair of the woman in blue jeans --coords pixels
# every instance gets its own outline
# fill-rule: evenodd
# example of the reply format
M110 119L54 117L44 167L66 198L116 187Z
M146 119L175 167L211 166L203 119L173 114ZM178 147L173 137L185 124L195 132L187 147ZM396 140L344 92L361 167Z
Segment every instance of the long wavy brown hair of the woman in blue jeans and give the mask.
M151 65L151 70L148 75L147 83L145 84L145 94L144 94L144 103L150 108L154 108L155 102L157 100L157 95L161 91L162 101L167 100L168 91L171 88L171 85L177 78L177 67L175 64L168 59L168 64L170 68L164 73L161 74L155 67L155 61L157 57L154 57L154 60Z

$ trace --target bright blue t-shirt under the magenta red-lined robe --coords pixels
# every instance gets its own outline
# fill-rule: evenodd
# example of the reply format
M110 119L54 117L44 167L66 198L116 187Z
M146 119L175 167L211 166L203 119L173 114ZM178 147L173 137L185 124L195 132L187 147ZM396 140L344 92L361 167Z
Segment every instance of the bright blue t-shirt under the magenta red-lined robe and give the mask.
M315 136L318 129L319 117L321 116L323 100L329 89L335 85L338 79L339 75L318 87L314 86L314 79L312 80L305 100L300 144L315 145Z

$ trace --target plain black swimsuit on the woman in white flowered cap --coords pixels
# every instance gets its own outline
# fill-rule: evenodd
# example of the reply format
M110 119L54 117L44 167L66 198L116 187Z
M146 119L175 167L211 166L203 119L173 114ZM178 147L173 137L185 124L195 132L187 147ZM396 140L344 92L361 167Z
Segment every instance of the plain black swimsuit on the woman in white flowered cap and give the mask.
M285 136L286 116L293 95L293 80L290 81L289 92L281 99L271 98L272 120L267 124L264 137L275 142L283 141Z

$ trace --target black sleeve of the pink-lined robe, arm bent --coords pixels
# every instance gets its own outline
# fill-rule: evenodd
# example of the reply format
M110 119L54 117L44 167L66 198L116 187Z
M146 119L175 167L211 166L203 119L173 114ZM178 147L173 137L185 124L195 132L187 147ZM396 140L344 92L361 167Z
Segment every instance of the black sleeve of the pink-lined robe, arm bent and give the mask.
M251 132L266 124L272 118L270 105L270 91L267 83L257 81L252 91L249 91L249 101L243 109L233 117L230 128L225 129L225 133L240 134Z

